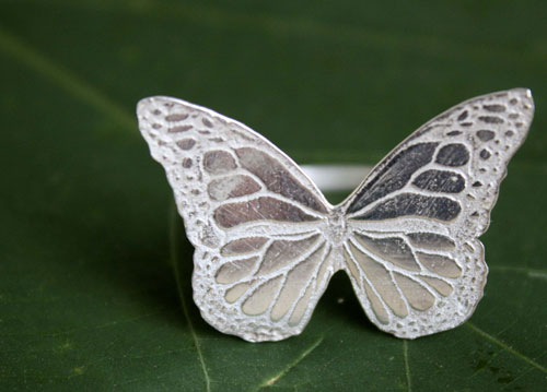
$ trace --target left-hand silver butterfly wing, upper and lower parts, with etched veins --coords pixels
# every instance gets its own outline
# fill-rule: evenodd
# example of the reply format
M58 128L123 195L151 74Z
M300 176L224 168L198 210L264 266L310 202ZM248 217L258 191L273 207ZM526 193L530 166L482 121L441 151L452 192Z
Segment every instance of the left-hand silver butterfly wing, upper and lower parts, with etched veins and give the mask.
M168 97L143 99L137 111L196 248L203 318L249 341L300 333L333 273L323 194L237 121Z

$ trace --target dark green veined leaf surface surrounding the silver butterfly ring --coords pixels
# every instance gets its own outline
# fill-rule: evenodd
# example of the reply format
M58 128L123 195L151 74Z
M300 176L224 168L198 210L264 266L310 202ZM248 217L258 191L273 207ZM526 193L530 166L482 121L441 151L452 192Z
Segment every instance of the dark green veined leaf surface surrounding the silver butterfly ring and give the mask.
M0 390L545 391L546 16L509 0L0 1ZM375 164L450 106L516 86L536 117L469 322L397 340L342 275L298 337L251 344L201 320L138 99L211 107L300 164Z

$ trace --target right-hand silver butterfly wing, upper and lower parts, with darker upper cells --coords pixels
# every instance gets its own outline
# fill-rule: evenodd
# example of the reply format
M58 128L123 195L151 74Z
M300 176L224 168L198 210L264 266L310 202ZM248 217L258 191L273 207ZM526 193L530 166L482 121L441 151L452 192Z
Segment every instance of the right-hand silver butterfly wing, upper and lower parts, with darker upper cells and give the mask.
M417 337L473 313L488 272L477 238L533 109L521 88L467 100L412 133L344 203L347 270L381 329Z

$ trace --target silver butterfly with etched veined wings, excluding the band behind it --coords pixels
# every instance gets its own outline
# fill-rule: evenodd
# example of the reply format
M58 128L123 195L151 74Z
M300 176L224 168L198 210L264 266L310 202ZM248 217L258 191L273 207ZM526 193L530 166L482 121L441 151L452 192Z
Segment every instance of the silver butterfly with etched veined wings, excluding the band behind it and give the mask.
M216 329L252 342L302 332L339 270L370 320L398 337L467 320L488 273L478 237L533 112L524 88L466 100L331 205L241 122L162 96L137 108L196 248L194 300Z

